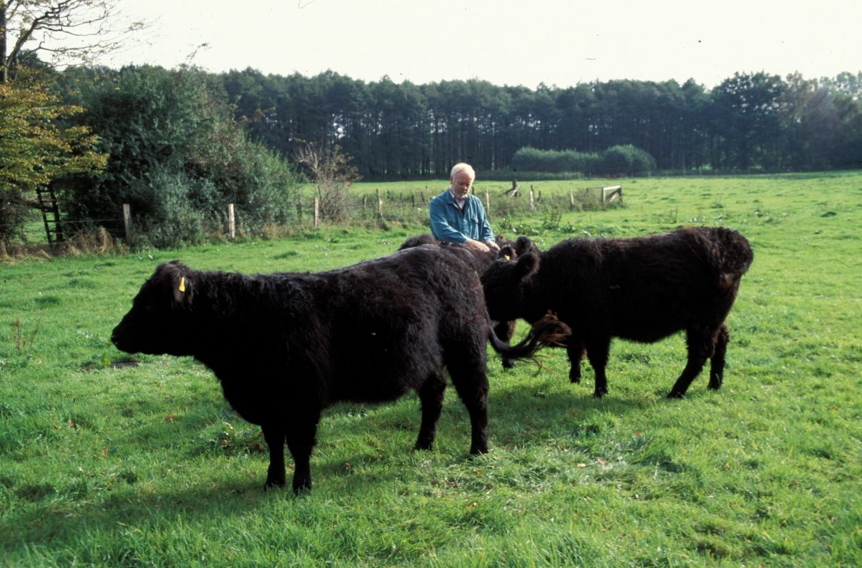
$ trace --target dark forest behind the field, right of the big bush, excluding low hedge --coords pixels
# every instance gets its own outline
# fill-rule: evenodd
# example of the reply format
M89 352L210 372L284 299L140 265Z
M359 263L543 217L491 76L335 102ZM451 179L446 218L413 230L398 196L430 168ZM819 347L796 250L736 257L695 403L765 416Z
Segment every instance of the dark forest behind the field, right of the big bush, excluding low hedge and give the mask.
M665 172L862 165L862 72L834 78L735 73L708 90L613 80L536 89L478 79L364 82L253 69L218 76L247 132L284 155L338 144L365 178L446 177L459 160L513 169L524 147L598 153L634 146Z

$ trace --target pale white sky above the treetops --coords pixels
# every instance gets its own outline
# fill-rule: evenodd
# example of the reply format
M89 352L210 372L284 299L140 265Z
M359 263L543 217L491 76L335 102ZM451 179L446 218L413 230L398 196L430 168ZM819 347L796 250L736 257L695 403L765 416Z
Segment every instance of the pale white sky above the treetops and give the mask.
M152 23L111 66L328 69L365 81L479 78L565 87L641 79L712 88L734 72L862 71L862 0L119 0ZM200 47L201 44L206 47Z

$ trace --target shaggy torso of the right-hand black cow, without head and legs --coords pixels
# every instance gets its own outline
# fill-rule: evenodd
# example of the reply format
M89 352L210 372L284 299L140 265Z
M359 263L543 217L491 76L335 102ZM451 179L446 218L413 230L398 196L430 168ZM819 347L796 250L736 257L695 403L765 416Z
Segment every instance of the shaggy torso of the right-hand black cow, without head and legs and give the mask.
M695 228L566 240L541 254L533 296L546 298L564 321L632 340L659 340L690 321L721 321L751 262L747 242L734 234Z

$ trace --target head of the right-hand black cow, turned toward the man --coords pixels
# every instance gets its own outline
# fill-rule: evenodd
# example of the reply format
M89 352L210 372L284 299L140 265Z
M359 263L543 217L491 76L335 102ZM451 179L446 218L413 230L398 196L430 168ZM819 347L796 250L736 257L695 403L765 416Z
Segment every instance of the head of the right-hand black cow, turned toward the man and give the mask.
M501 250L503 253L503 250ZM515 251L511 253L516 254ZM524 317L524 289L539 270L539 255L524 253L514 259L503 256L482 274L485 305L492 320L508 321Z

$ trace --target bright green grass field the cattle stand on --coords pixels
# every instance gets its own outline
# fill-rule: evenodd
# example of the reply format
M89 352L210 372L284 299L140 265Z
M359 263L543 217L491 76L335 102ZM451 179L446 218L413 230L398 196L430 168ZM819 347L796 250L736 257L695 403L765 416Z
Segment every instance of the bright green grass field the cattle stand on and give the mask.
M745 234L755 258L721 390L702 375L665 399L680 335L615 341L601 400L588 365L568 383L563 350L538 373L491 356L490 453L468 458L451 389L429 453L410 450L415 396L342 404L324 413L299 498L262 490L259 428L209 371L120 353L110 331L159 262L326 270L396 250L419 223L0 265L0 565L862 565L862 172L622 186L622 208L503 219L492 206L492 225L541 247L690 225Z

